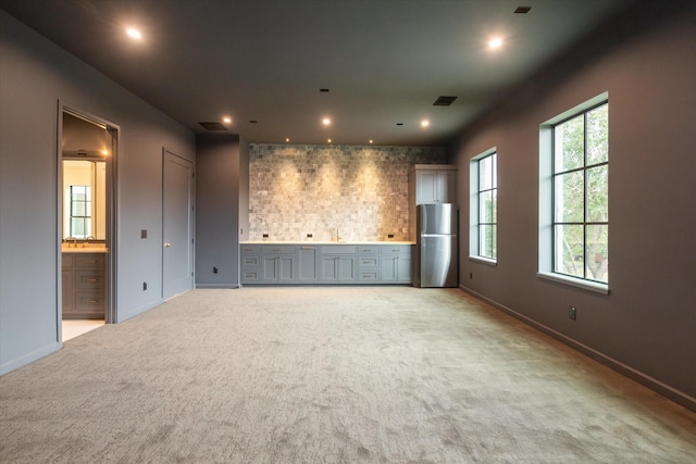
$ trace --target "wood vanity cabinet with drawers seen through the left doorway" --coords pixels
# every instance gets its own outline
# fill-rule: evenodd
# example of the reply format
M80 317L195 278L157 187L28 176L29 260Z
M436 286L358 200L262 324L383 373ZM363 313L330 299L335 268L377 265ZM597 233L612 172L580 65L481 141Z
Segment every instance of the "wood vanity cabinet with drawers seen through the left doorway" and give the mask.
M63 318L103 319L104 253L62 253Z

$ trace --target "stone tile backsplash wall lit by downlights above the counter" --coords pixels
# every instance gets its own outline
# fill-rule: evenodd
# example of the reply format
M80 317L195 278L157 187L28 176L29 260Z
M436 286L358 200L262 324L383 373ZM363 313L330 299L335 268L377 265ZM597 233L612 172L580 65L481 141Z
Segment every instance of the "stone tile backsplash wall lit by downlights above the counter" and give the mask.
M408 172L440 147L251 145L249 239L408 240ZM312 234L312 238L307 235ZM393 234L393 238L388 235Z

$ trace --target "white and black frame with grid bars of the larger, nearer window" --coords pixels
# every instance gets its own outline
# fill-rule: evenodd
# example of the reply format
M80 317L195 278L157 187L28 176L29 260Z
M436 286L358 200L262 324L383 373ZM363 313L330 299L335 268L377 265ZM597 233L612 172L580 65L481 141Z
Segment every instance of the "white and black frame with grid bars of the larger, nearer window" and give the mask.
M538 272L537 276L544 279L561 283L564 285L582 288L585 290L608 294L609 283L587 278L586 271L586 228L587 226L602 224L609 227L607 222L588 222L587 205L584 203L582 223L572 222L573 225L582 225L583 227L583 277L566 274L556 269L556 226L568 224L568 222L557 221L556 213L556 178L559 175L572 172L583 173L583 196L587 196L587 170L606 165L609 166L609 159L606 162L587 164L587 134L586 121L587 113L605 104L609 104L609 93L602 92L597 97L581 103L551 120L548 120L539 126L539 234L538 234ZM555 164L555 128L577 116L583 116L583 164L580 167L556 172ZM607 192L608 195L608 192Z

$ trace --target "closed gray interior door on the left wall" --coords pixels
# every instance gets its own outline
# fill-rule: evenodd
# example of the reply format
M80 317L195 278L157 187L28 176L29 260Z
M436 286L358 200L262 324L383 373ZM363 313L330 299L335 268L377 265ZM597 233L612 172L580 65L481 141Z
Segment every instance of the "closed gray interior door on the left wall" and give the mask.
M162 298L194 285L194 164L163 150Z

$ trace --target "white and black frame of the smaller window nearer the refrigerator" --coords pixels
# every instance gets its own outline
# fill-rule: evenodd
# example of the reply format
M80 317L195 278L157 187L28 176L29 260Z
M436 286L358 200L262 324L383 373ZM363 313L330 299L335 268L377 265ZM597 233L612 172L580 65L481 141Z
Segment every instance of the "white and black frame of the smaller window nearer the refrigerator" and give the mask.
M481 166L482 162L486 159L493 159L493 168L490 170L492 179L490 187L486 189L481 188ZM485 264L496 265L498 262L498 149L497 147L489 148L488 150L478 153L473 156L469 165L469 178L470 178L470 203L469 203L469 259L472 261L478 261ZM490 222L482 223L481 216L481 195L483 192L492 192L492 198L495 198L495 217L492 217ZM493 226L495 230L495 238L493 243L492 255L482 254L482 240L481 240L481 226Z

